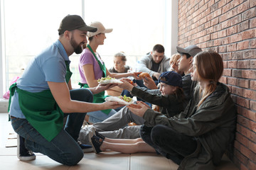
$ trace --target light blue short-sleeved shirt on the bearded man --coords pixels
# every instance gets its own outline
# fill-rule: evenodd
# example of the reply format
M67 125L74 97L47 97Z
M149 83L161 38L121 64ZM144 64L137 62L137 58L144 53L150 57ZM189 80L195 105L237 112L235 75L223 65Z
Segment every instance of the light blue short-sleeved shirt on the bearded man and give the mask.
M65 61L70 63L67 52L61 42L57 40L36 56L17 81L19 89L37 93L49 89L47 81L65 82ZM18 104L18 93L11 98L9 114L16 118L25 118Z

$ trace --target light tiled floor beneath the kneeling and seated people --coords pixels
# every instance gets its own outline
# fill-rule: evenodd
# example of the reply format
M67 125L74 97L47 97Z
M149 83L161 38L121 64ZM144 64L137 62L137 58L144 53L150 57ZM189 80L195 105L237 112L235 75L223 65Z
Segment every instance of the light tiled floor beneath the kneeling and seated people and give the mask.
M157 154L119 154L118 152L103 152L95 154L93 152L84 155L77 166L63 166L43 154L36 154L36 160L31 162L21 162L16 157L16 147L5 147L11 125L7 121L7 113L0 113L0 169L1 170L78 170L78 169L127 169L127 170L155 170L169 169L176 170L178 165L169 159ZM230 161L223 157L222 164L218 170L236 170Z

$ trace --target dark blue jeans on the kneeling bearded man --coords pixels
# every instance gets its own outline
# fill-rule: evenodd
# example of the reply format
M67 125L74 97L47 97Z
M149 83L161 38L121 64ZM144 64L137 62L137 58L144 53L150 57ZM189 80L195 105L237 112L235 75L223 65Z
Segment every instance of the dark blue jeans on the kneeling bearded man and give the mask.
M75 89L70 91L70 97L76 101L92 102L92 93L88 89ZM86 113L70 113L65 123L65 128L50 142L35 130L28 120L11 118L11 125L15 132L25 138L25 147L33 152L40 152L51 159L73 166L78 164L83 157L83 152L78 145L78 136Z

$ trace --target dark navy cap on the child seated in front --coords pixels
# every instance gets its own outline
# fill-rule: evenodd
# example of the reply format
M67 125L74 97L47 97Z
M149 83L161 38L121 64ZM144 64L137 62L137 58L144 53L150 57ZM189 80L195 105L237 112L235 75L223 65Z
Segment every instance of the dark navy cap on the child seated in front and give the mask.
M162 77L164 77L166 79L166 81L161 79ZM182 88L182 77L181 77L180 74L178 74L174 71L162 72L160 77L159 77L159 83L160 82L163 82L165 84L169 84L171 86L179 86L179 87Z

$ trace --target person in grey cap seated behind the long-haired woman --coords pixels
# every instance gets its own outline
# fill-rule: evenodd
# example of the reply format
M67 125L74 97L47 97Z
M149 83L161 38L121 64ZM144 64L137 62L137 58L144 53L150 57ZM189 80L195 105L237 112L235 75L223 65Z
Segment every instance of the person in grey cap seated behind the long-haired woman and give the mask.
M195 57L201 48L196 45L189 45L188 47L176 47L177 52L181 54L181 58L178 60L178 70L184 72L182 77L183 91L186 96L187 102L191 99L191 92L196 84L192 83L191 74L189 69L192 67L193 57Z

